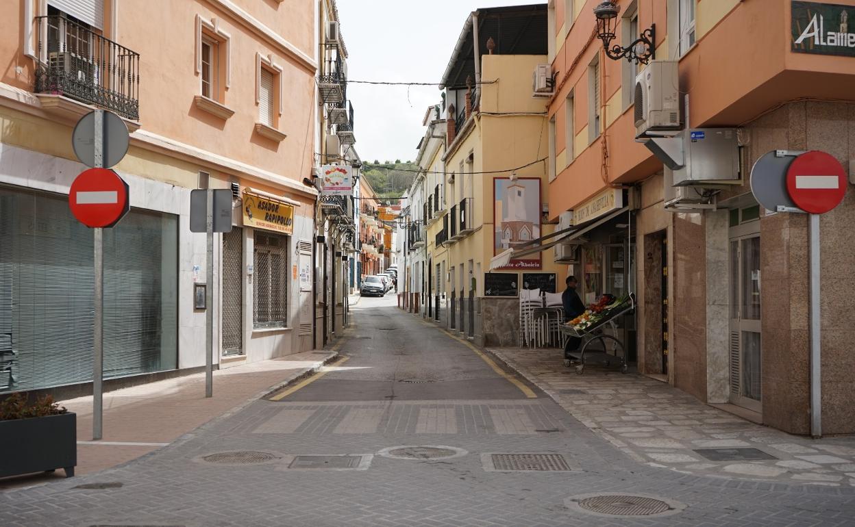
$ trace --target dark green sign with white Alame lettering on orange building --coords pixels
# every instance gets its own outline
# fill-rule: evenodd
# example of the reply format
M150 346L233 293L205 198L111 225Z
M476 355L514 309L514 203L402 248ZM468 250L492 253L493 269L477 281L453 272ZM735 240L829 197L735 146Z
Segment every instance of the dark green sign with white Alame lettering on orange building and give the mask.
M793 2L792 50L797 53L855 56L855 6Z

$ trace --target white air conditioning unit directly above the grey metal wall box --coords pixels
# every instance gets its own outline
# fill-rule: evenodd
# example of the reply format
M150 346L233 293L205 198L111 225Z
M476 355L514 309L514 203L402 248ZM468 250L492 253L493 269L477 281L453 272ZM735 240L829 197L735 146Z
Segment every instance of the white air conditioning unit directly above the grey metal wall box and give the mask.
M646 132L680 130L680 81L677 61L651 61L635 77L635 137Z

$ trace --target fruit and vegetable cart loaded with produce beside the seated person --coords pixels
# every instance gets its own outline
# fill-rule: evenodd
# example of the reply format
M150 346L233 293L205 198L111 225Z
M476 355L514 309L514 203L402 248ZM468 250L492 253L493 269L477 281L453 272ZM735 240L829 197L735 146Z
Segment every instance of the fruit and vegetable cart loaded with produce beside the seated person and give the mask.
M616 337L615 321L635 309L635 295L630 294L617 300L614 300L613 296L608 297L610 296L604 296L569 323L558 325L559 331L564 335L582 339L579 349L569 352L568 358L564 359L564 366L567 367L573 361L578 362L575 368L576 373L580 375L585 372L585 365L591 361L605 366L610 366L612 361L620 361L621 373L629 370L626 348L621 339ZM606 299L610 300L610 303L605 304ZM610 333L604 331L607 328L611 330Z

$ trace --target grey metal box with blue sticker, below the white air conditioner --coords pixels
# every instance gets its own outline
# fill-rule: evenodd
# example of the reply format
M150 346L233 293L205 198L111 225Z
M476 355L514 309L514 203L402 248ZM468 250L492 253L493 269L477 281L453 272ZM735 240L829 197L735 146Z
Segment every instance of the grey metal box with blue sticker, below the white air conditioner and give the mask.
M681 135L685 166L674 171L675 186L742 183L735 128L689 128Z

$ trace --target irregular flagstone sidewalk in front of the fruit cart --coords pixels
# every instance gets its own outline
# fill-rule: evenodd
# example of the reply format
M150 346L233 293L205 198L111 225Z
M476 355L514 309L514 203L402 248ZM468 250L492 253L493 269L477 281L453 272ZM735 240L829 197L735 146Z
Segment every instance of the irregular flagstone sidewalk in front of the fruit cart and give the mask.
M490 350L582 424L649 466L716 477L855 487L855 436L792 436L708 406L639 374L563 366L559 350ZM756 448L771 459L707 459L699 450ZM756 454L756 453L755 453ZM853 520L855 524L855 520Z

